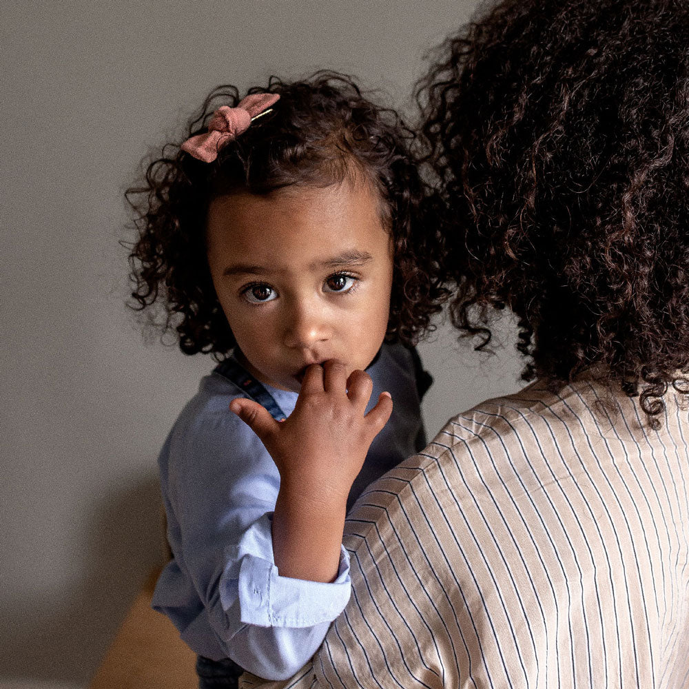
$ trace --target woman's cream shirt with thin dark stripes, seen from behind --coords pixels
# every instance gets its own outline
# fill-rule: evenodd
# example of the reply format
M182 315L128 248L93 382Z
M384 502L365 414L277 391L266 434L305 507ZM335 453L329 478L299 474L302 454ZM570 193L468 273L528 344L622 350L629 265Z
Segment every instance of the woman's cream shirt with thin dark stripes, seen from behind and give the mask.
M458 415L364 493L353 593L265 689L689 687L689 413L535 382Z

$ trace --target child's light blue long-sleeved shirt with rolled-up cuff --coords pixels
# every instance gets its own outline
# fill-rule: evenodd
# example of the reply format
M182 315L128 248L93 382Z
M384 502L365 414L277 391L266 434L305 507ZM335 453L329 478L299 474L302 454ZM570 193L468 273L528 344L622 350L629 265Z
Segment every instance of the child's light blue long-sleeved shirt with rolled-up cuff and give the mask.
M348 506L425 445L415 358L402 345L384 345L368 369L369 408L387 390L393 413L369 449ZM297 393L265 388L289 416ZM345 608L349 555L343 547L330 584L278 575L271 519L280 476L256 434L229 411L241 396L227 378L205 376L163 446L158 464L174 559L158 579L153 607L198 655L229 657L260 677L285 679L313 655Z

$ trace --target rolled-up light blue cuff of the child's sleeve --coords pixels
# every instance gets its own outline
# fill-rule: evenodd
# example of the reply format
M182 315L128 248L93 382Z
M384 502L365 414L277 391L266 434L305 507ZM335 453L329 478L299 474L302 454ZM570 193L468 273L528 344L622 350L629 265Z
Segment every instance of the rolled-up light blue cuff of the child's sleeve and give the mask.
M264 515L255 522L251 534L246 533L238 545L241 622L260 627L311 627L333 621L351 594L349 553L340 546L338 575L329 584L281 577L273 561L271 517Z

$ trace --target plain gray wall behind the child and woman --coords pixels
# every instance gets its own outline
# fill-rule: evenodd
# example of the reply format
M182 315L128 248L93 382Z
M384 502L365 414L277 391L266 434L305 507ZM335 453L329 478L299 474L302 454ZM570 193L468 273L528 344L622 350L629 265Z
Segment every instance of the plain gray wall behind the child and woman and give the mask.
M156 453L212 361L145 342L123 308L122 191L147 146L212 86L271 73L337 68L406 107L473 4L3 3L0 678L84 686L160 558ZM515 389L512 353L446 329L422 356L431 434Z

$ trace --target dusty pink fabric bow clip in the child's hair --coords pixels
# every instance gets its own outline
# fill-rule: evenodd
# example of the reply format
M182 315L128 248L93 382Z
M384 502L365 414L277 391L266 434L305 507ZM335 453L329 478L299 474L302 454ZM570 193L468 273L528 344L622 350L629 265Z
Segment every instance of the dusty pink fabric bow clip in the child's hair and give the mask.
M228 141L246 132L251 122L269 112L271 105L279 98L280 94L277 93L252 93L239 101L236 107L221 105L213 113L208 131L187 138L182 150L204 163L212 163Z

